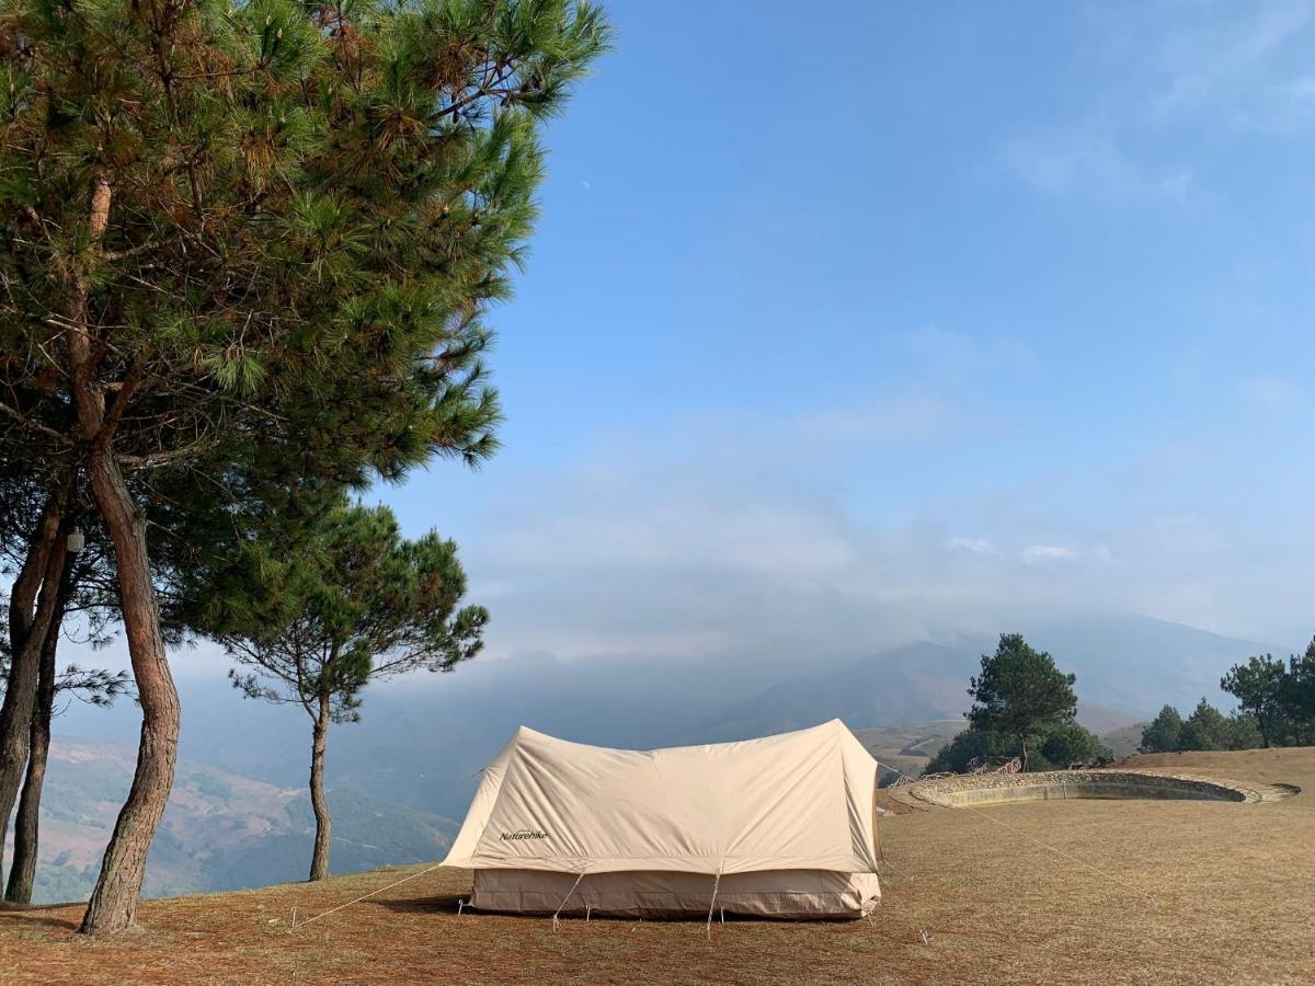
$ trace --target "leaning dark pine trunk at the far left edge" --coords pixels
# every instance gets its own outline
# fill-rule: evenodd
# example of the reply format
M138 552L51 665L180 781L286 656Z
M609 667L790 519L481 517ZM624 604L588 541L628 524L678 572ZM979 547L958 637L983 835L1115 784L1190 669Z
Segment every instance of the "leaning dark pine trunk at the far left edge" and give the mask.
M18 798L24 768L28 764L32 719L37 705L37 681L41 677L41 652L58 606L59 573L64 564L66 546L59 538L62 531L58 513L47 511L43 522L47 519L53 519L55 532L47 539L43 531L37 539L38 543L45 543L45 560L36 615L29 611L29 619L22 619L21 615L18 618L18 622L25 624L25 635L21 646L11 656L9 681L5 686L4 703L0 705L0 869L4 862L4 835L9 830L9 815Z

